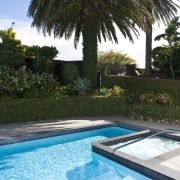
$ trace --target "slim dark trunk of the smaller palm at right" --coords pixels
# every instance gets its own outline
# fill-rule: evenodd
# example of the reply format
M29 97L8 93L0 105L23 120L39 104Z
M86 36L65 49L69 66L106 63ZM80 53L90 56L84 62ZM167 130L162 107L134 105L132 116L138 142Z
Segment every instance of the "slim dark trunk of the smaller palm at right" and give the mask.
M145 73L151 73L151 51L152 51L152 25L149 25L149 31L146 32L146 54L145 54Z

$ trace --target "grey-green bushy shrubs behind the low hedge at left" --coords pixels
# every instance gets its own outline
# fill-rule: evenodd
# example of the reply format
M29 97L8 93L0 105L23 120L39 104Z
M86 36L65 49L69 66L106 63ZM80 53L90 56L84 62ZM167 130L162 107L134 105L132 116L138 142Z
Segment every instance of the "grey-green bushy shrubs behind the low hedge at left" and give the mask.
M24 66L17 71L0 68L0 96L51 97L58 86L51 74L32 74Z

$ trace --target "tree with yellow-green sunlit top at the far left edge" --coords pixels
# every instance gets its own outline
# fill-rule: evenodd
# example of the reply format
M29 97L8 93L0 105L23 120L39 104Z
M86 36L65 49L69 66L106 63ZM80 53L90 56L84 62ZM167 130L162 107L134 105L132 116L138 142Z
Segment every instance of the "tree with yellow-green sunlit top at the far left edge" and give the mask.
M24 47L20 40L16 39L16 33L12 28L0 30L0 65L8 67L21 66L24 62Z

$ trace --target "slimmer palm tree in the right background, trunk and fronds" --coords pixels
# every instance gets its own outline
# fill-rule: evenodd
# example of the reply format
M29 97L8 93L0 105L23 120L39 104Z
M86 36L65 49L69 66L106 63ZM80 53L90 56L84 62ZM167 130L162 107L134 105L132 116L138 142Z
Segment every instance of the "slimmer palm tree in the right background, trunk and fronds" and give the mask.
M168 23L175 14L177 13L177 4L173 1L175 0L153 0L154 8L149 8L149 12L154 17L155 21L158 23L163 22ZM178 0L176 0L178 1ZM146 31L146 52L145 52L145 73L151 73L151 51L152 51L152 22L146 20L147 31Z

